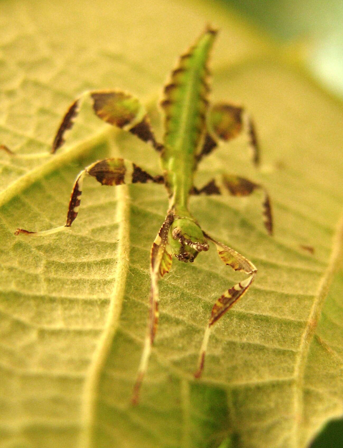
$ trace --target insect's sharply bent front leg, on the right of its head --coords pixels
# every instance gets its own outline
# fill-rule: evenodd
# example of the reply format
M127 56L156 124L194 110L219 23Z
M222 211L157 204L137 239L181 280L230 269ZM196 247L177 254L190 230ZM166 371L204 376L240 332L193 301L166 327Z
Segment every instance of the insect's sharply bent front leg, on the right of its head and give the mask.
M247 260L247 258L243 257L243 255L239 254L230 247L225 246L225 244L214 240L205 232L204 236L208 240L213 241L213 243L217 247L219 257L227 266L231 266L234 271L245 272L248 275L248 278L246 280L240 281L239 283L228 289L224 294L221 295L221 297L219 297L217 302L213 305L211 317L208 320L208 324L205 328L204 339L200 348L198 368L194 375L195 378L200 378L204 370L205 354L213 324L216 323L217 320L220 319L221 316L225 314L226 311L229 310L231 306L233 306L234 303L243 296L244 293L247 292L247 289L252 284L257 272L256 267L249 260Z

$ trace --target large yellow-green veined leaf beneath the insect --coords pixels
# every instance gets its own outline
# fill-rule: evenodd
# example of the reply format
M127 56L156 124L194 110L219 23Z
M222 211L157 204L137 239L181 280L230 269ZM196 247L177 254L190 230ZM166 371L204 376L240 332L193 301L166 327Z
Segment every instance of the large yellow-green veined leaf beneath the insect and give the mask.
M207 22L218 26L212 97L252 113L262 169L251 167L242 136L202 162L196 184L227 170L262 183L275 235L265 233L258 194L192 198L201 226L251 259L256 281L216 324L197 381L212 305L241 276L214 247L194 265L174 261L161 281L141 401L131 407L163 187L88 179L69 233L13 233L63 224L74 177L91 161L122 154L157 173L156 153L86 106L55 156L1 153L0 446L305 447L343 408L342 284L327 294L343 239L341 106L212 4L9 0L1 8L0 143L18 154L48 151L63 112L90 88L137 95L161 137L166 75Z

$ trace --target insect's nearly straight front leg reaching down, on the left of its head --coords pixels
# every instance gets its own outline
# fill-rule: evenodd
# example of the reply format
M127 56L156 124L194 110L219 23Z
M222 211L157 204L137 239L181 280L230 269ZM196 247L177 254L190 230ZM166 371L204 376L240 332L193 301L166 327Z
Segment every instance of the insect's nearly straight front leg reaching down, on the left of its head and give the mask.
M148 361L150 358L151 348L155 340L156 330L159 318L159 296L158 296L158 280L169 272L172 265L172 250L168 243L168 233L171 224L173 223L173 215L167 215L162 227L160 228L155 241L152 243L150 253L150 310L148 317L147 334L145 336L143 352L139 363L137 379L134 386L132 404L136 405L139 401L139 392L142 385L143 377L148 368Z

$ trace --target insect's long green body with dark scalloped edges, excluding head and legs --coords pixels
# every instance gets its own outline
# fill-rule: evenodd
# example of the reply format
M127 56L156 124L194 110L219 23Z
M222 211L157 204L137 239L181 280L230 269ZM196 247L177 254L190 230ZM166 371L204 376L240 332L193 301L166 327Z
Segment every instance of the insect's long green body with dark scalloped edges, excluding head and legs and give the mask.
M165 86L165 150L162 168L174 202L187 203L193 185L195 154L202 141L208 106L206 62L216 32L208 29L190 50L181 56L171 81Z

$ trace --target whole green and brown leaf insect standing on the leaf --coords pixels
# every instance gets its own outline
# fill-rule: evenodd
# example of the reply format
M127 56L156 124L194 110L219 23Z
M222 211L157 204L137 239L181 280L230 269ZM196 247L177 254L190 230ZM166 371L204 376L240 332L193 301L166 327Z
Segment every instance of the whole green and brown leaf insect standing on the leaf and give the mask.
M263 218L267 232L272 234L272 214L269 195L263 186L234 174L225 174L221 179L212 179L198 189L193 178L199 162L209 155L219 140L228 141L241 132L247 134L252 149L253 162L259 164L259 147L254 124L247 112L237 105L216 103L209 107L208 56L217 30L208 26L189 50L182 54L170 81L164 87L161 107L164 110L165 134L163 142L157 142L143 105L134 96L121 90L93 90L81 95L69 106L52 144L52 154L64 143L64 134L73 126L78 115L79 103L88 96L95 114L111 125L134 134L143 142L150 143L160 155L162 175L152 176L138 165L121 158L97 161L77 176L68 207L64 226L42 232L30 232L18 228L16 235L44 236L69 228L78 215L81 203L82 182L86 176L95 177L102 185L122 185L155 182L165 185L169 197L169 208L150 253L150 311L143 352L134 386L132 403L137 404L143 377L155 340L159 319L158 281L172 265L173 255L184 263L193 263L200 252L214 243L221 260L235 271L247 274L245 280L234 284L214 303L211 316L204 330L195 378L204 370L205 353L214 323L217 322L252 284L257 269L243 255L216 241L202 230L191 215L188 202L191 195L219 195L227 192L234 196L247 196L255 190L263 192ZM11 151L2 146L7 152Z

